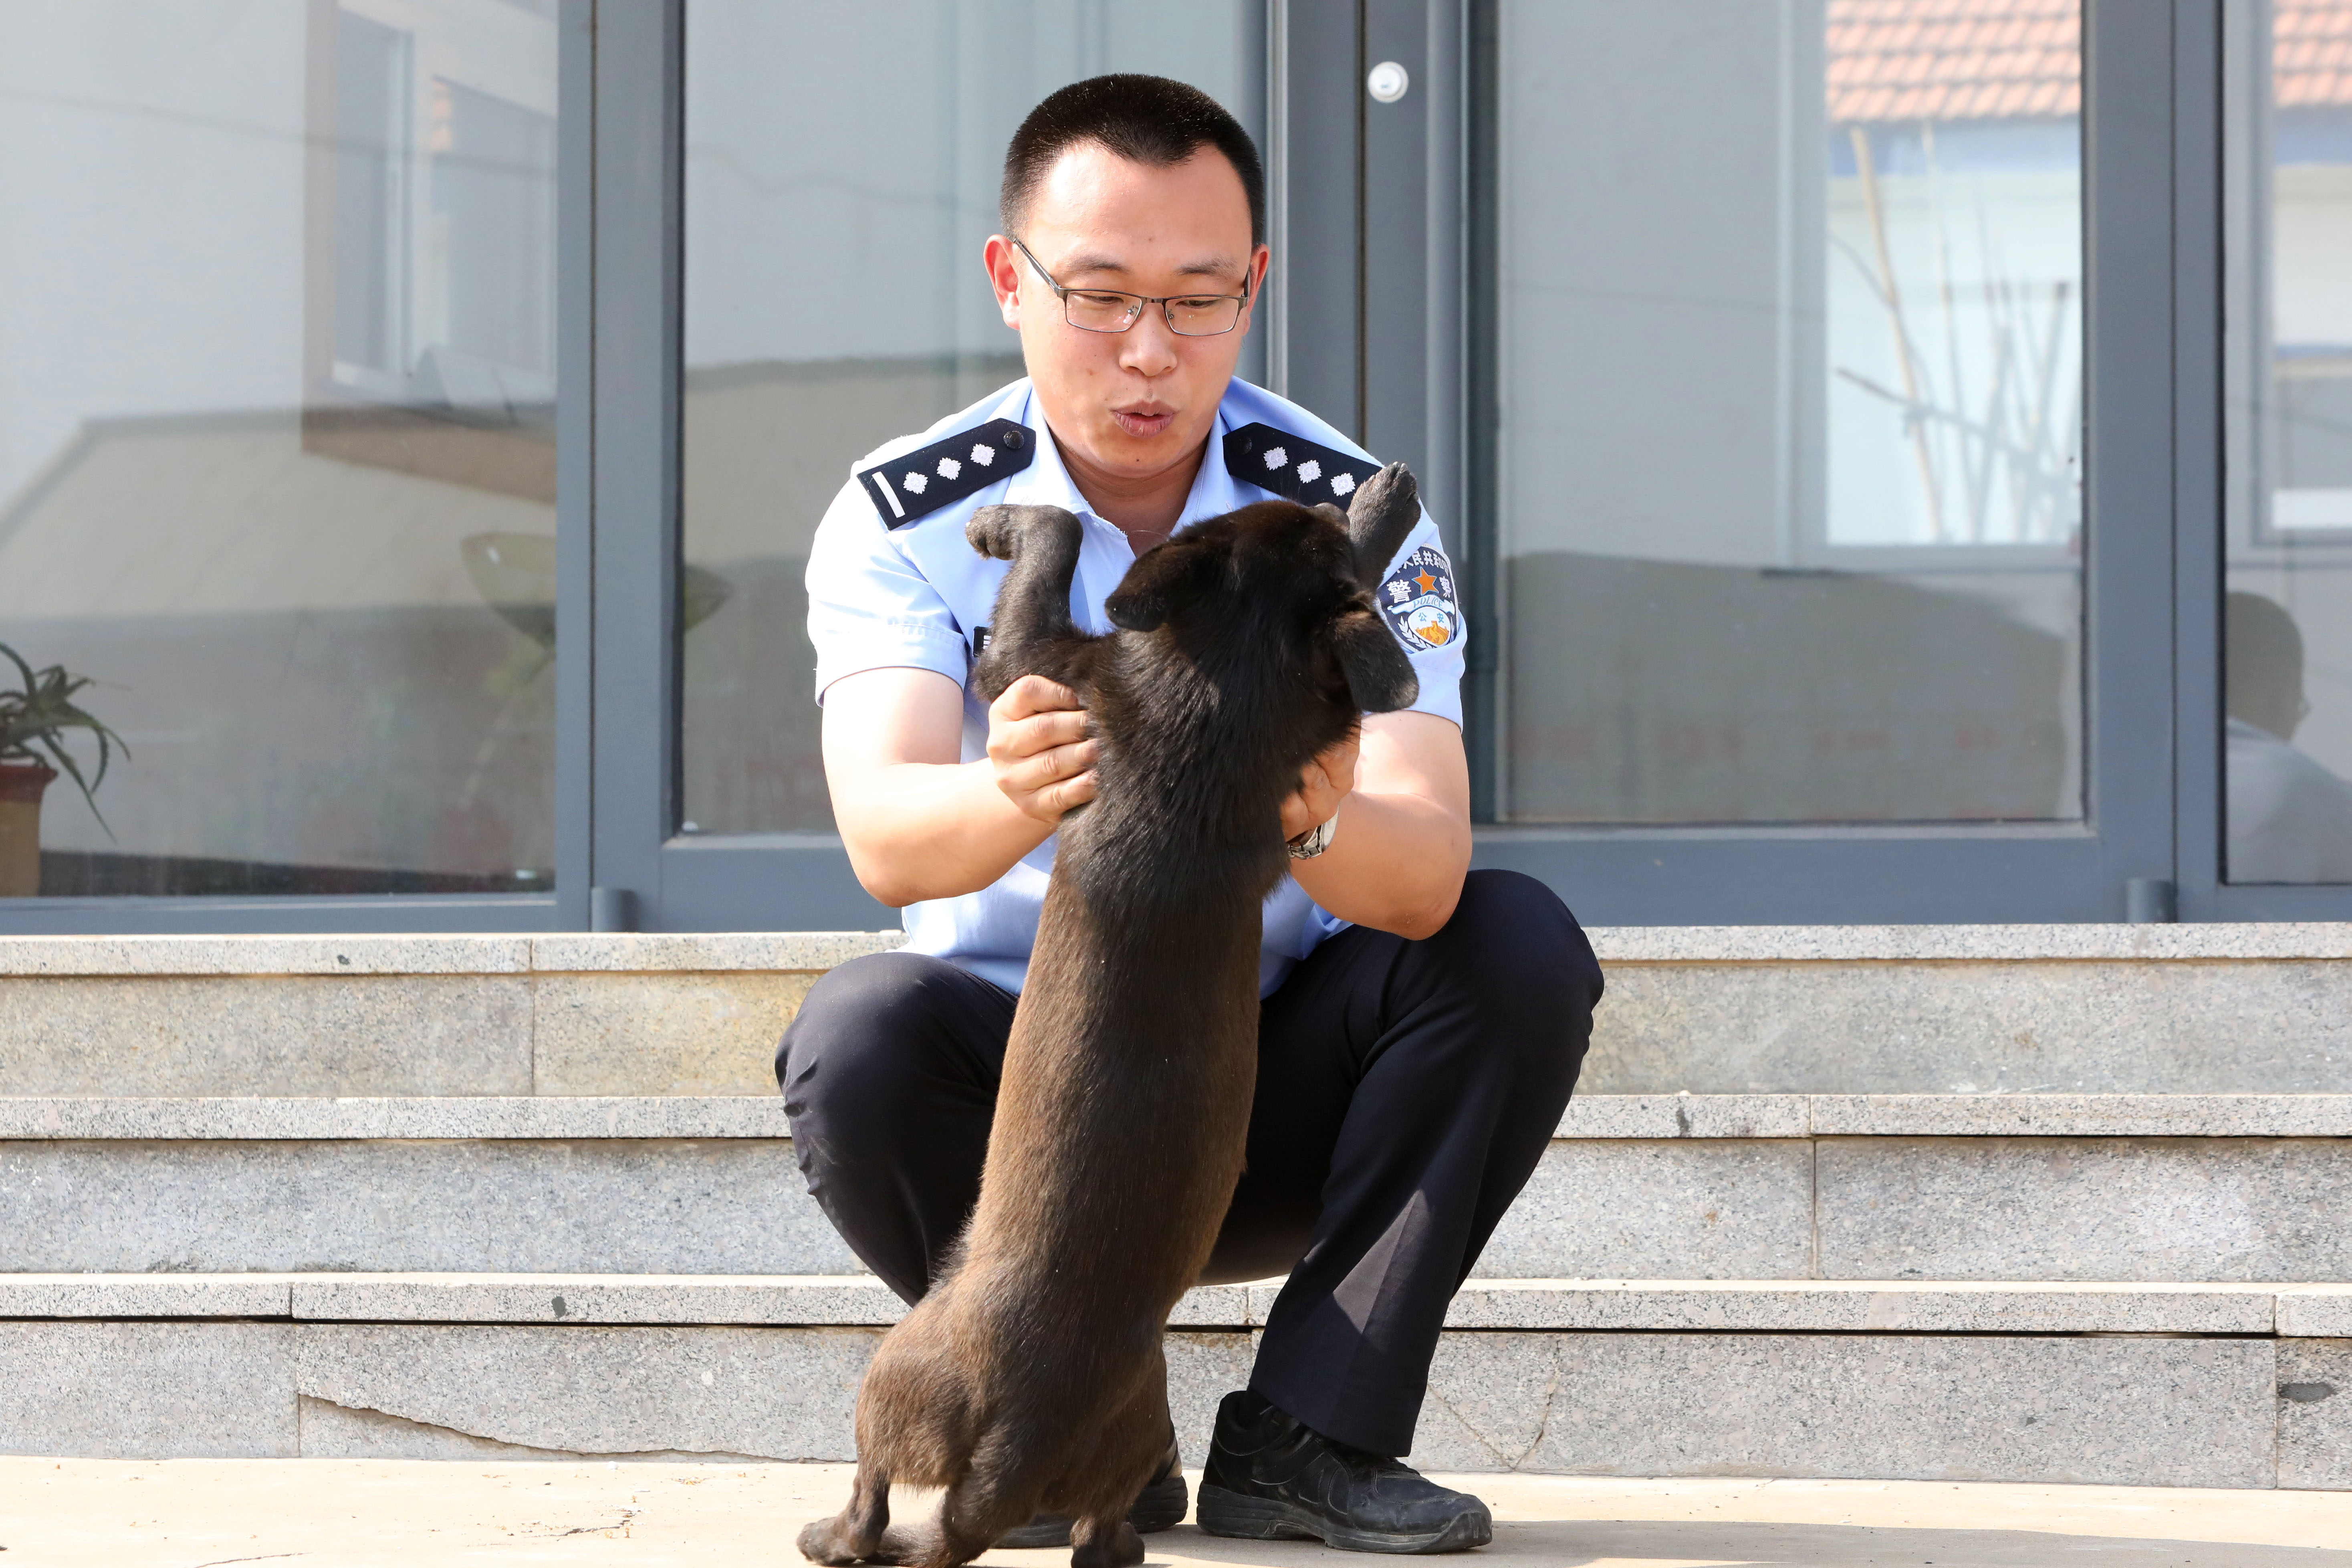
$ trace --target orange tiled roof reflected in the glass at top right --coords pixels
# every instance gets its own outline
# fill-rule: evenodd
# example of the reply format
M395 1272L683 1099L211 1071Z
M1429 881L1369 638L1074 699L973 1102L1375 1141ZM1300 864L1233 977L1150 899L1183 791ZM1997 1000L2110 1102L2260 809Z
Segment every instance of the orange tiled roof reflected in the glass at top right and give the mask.
M2272 0L2281 108L2352 106L2352 0ZM2082 0L1830 0L1830 120L2082 113Z

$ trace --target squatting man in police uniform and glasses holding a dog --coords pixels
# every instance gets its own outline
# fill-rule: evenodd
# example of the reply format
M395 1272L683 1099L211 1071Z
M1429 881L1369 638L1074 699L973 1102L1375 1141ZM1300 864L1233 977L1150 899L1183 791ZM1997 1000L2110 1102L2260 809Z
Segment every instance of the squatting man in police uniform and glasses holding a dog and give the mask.
M1054 825L1094 795L1073 691L964 689L1007 571L964 520L1075 512L1070 609L1108 632L1103 597L1174 531L1265 496L1345 505L1376 470L1232 378L1268 268L1263 174L1211 99L1145 75L1056 92L1007 150L1000 219L985 266L1028 378L856 463L809 552L835 818L910 940L816 983L776 1077L809 1192L910 1302L978 1194ZM1289 1284L1218 1410L1200 1526L1449 1552L1491 1537L1486 1507L1397 1455L1446 1302L1559 1124L1602 978L1543 884L1468 872L1465 628L1428 512L1376 599L1421 701L1322 755L1282 811L1249 1166L1209 1276ZM1136 1523L1183 1514L1171 1467Z

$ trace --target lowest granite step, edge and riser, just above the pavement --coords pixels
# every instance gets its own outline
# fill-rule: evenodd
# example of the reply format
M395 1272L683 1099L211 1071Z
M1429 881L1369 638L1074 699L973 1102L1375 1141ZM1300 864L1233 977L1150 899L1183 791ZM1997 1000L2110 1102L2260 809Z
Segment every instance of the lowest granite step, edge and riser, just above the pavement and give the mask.
M1169 1335L1188 1458L1275 1284ZM0 1450L851 1455L868 1276L0 1276ZM2352 1286L1477 1279L1425 1469L2352 1488Z

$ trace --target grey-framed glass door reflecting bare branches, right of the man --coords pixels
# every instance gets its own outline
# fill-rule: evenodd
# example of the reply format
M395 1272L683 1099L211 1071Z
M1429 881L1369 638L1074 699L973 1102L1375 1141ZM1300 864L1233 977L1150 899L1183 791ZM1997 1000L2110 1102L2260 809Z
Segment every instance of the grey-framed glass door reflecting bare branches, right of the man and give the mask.
M2124 917L2171 165L2100 82L2164 14L2089 82L2079 0L1479 19L1482 858L1602 924Z

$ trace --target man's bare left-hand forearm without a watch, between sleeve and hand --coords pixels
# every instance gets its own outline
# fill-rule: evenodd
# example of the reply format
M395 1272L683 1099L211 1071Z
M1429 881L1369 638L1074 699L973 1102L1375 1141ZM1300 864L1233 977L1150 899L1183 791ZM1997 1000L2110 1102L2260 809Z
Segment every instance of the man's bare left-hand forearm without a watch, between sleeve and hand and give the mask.
M985 759L873 769L835 820L858 882L891 907L976 893L1054 832L1004 799Z

